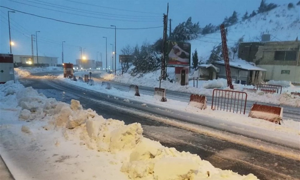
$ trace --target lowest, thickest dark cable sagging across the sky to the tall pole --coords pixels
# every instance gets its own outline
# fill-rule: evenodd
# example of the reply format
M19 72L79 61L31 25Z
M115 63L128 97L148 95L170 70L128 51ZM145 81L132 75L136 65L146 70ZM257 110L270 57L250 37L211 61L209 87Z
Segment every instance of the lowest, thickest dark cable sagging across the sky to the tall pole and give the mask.
M54 19L54 18L49 18L49 17L45 17L45 16L39 16L36 14L32 14L32 13L26 13L20 10L15 10L9 7L5 7L5 6L1 6L0 7L4 7L6 9L10 9L10 10L14 10L16 12L19 13L24 13L24 14L28 14L28 15L32 15L32 16L36 16L36 17L41 17L44 19L50 19L50 20L54 20L54 21L58 21L58 22L64 22L64 23L68 23L68 24L74 24L74 25L79 25L79 26L88 26L88 27L94 27L94 28L103 28L103 29L115 29L115 28L111 28L111 27L103 27L103 26L94 26L94 25L87 25L87 24L79 24L79 23L75 23L75 22L68 22L68 21L63 21L63 20L58 20L58 19ZM147 28L116 28L116 29L120 29L120 30L139 30L139 29L156 29L156 28L161 28L163 26L156 26L156 27L147 27Z

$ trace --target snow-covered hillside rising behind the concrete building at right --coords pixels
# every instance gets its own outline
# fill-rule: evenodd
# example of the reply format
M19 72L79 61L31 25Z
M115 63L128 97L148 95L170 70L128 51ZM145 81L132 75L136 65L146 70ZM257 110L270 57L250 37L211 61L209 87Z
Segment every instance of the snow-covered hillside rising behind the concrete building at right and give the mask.
M300 8L298 5L288 9L286 4L238 22L228 27L227 46L228 48L233 46L241 37L244 37L244 42L260 41L262 33L270 34L271 41L294 41L297 36L300 38L299 14ZM222 43L221 33L217 31L202 35L198 39L190 41L190 43L191 51L197 49L199 58L206 61L213 47Z

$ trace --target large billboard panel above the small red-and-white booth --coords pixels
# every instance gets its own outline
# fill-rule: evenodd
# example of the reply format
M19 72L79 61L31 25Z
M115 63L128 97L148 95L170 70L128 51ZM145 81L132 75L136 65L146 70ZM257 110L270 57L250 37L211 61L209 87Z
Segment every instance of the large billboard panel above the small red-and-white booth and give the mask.
M190 65L190 43L168 41L168 65Z

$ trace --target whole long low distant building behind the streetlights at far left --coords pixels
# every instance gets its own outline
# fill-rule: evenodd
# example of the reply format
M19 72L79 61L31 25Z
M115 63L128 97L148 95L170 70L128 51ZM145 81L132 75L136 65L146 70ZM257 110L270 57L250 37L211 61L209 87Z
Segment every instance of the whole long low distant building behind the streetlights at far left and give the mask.
M56 66L58 57L48 56L34 56L32 61L31 55L13 55L13 62L15 67L29 67L29 66Z

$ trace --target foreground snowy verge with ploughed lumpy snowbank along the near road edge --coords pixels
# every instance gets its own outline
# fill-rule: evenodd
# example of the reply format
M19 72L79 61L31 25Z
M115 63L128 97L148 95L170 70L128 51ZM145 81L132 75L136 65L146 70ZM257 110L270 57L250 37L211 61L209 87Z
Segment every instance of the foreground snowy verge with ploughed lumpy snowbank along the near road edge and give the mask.
M257 179L220 170L189 152L125 125L46 98L31 87L0 85L0 152L15 179Z

